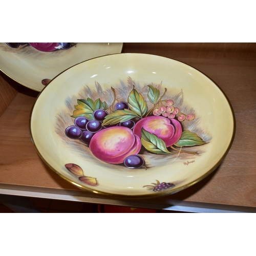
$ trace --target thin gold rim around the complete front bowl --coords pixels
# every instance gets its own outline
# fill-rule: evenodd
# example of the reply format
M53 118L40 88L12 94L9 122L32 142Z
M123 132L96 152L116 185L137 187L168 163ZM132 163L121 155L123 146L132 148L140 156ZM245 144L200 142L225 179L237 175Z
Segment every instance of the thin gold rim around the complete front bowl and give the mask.
M90 61L92 59L96 59L96 58L102 58L102 57L108 57L108 56L111 56L111 55L127 55L127 54L136 54L136 55L149 55L149 56L157 56L157 57L162 57L162 58L166 58L166 59L172 59L172 58L167 58L167 57L163 57L163 56L159 56L159 55L154 55L154 54L145 54L145 53L114 53L114 54L109 54L109 55L104 55L104 56L100 56L100 57L95 57L95 58L91 58L91 59L88 59L88 60L85 60L85 61L82 61L80 63L83 63L83 62L86 62L86 61ZM98 194L98 195L102 195L102 196L106 196L106 197L112 197L112 198L124 198L124 199L127 199L127 198L136 198L136 199L146 199L146 198L155 198L155 197L160 197L160 196L167 196L167 195L172 195L172 194L175 194L181 190L184 190L185 188L188 188L190 186L193 186L195 185L196 183L198 183L199 181L203 180L205 177L207 177L209 174L211 174L220 164L221 162L224 160L224 158L226 157L227 153L229 152L230 150L230 147L232 145L232 142L233 142L233 139L234 139L234 135L235 135L235 131L236 131L236 118L234 116L234 112L233 112L233 108L232 108L232 105L229 101L229 99L227 98L226 94L223 92L223 90L218 86L218 84L212 80L211 78L209 78L207 75L205 75L203 72L199 71L198 69L190 66L190 65L187 65L186 63L182 62L182 61L179 61L179 60L176 60L176 59L172 59L172 60L175 60L175 61L178 61L178 62L181 62L183 63L184 65L188 66L188 67L191 67L195 70L197 70L198 72L200 72L201 74L203 74L204 76L206 76L210 81L212 81L215 86L217 86L217 88L219 88L219 90L221 91L221 93L224 95L224 97L226 98L227 102L228 102L228 105L229 105L229 108L231 110L231 113L232 113L232 117L233 117L233 133L232 133L232 137L231 137L231 140L229 142L229 145L227 147L227 150L226 152L223 154L223 156L221 157L221 159L215 164L214 167L212 167L211 169L209 169L204 175L202 175L201 177L199 177L198 179L184 185L184 186L181 186L181 187L177 187L177 188L173 188L173 189L170 189L168 191L163 191L163 192L159 192L159 193L156 193L156 194L148 194L148 195L118 195L118 194L111 194L111 193L106 193L106 192L102 192L102 191L97 191L97 190L94 190L94 189L91 189L91 188L88 188L88 187L83 187L81 186L80 184L68 179L67 177L63 176L62 174L60 174L56 169L54 169L45 159L44 157L41 156L40 152L38 151L35 143L34 143L34 140L33 140L33 135L32 135L32 131L31 131L31 117L32 117L32 113L33 113L33 109L34 109L34 106L37 102L37 99L39 98L39 96L41 95L41 93L49 86L49 84L56 78L58 77L59 75L61 75L62 73L64 73L65 71L79 65L80 63L77 63L76 65L62 71L61 73L59 73L57 76L55 76L48 84L47 86L42 89L42 91L38 94L37 98L36 98L36 101L35 103L33 104L33 107L31 109L31 112L30 112L30 117L29 117L29 132L30 132L30 137L31 137L31 140L32 140L32 143L35 147L35 150L37 152L37 154L39 155L39 157L42 159L42 161L45 162L45 164L50 168L52 169L56 174L58 174L61 178L65 179L66 181L68 181L69 183L72 183L73 185L79 187L80 189L82 190L85 190L85 191L89 191L89 192L92 192L92 193L95 193L95 194Z

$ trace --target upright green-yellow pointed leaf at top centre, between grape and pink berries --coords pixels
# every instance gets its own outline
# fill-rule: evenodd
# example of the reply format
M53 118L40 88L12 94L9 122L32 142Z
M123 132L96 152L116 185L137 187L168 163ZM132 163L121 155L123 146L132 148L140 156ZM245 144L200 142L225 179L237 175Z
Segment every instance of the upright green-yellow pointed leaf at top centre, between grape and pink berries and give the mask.
M147 111L146 101L135 89L132 90L128 97L128 105L129 108L140 117L142 117Z

